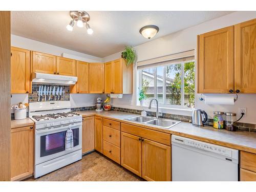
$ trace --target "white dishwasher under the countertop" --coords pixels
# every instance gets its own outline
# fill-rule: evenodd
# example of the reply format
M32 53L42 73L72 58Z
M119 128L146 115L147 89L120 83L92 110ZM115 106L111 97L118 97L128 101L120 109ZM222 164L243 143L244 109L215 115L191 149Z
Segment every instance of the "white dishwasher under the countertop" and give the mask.
M238 150L172 135L173 181L238 181Z

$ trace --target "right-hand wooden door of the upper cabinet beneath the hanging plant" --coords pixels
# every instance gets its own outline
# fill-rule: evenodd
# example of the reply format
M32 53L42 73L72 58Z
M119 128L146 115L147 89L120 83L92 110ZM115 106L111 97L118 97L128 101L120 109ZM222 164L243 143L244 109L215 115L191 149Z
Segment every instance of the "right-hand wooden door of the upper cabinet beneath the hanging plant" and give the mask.
M113 69L113 93L123 93L123 80L131 81L132 79L123 79L122 59L117 59L112 62Z

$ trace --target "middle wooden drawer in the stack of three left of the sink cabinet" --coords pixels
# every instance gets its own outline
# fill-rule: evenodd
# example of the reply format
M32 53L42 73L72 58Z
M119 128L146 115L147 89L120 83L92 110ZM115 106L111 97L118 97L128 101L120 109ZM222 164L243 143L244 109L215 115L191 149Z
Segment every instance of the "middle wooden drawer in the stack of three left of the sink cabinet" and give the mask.
M120 131L103 125L103 140L120 147Z

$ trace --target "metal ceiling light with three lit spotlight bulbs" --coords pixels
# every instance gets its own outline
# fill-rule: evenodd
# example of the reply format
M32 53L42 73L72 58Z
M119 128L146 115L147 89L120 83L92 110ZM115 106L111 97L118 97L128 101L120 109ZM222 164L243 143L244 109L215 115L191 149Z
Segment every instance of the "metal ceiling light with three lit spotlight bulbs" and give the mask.
M66 27L69 31L73 31L75 22L76 22L77 27L81 27L81 28L83 27L83 23L85 23L87 33L90 35L93 34L92 28L87 23L90 20L90 15L87 12L85 12L85 11L70 11L70 17L72 18L72 20Z

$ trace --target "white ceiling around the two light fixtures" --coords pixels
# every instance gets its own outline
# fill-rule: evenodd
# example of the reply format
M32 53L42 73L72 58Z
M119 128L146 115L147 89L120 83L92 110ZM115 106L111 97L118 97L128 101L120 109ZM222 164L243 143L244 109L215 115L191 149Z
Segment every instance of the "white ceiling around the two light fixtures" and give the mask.
M139 30L145 25L160 28L151 39L194 26L231 11L88 11L89 24L94 30L88 35L86 28L66 29L69 11L12 11L11 33L46 42L98 57L105 57L147 42Z

